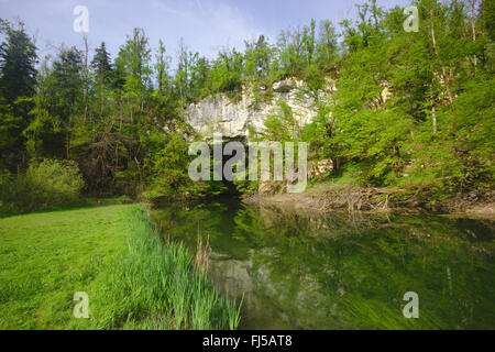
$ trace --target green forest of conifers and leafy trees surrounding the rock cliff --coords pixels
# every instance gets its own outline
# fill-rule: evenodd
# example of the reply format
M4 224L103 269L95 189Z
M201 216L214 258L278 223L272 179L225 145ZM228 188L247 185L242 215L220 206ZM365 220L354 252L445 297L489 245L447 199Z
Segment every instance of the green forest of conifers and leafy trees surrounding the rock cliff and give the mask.
M415 6L418 32L404 30L402 7L369 0L356 19L312 20L215 58L180 42L173 59L164 41L152 47L140 28L117 57L105 42L91 52L87 37L40 57L24 24L2 19L0 213L80 197L224 193L222 183L188 177L188 143L199 136L184 109L216 94L235 101L243 90L270 101L273 84L287 77L306 82L318 113L299 127L278 101L256 138L308 142L311 161L331 160L333 169L312 183L352 175L356 185L420 191L427 200L490 193L495 2ZM329 79L336 91L321 95Z

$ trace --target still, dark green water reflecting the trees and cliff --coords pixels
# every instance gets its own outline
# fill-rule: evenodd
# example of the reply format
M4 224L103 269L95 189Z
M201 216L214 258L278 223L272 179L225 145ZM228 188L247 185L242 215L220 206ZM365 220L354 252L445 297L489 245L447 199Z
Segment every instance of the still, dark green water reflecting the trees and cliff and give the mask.
M239 200L153 210L165 240L243 297L240 329L495 329L495 221L300 212ZM404 294L419 297L406 319Z

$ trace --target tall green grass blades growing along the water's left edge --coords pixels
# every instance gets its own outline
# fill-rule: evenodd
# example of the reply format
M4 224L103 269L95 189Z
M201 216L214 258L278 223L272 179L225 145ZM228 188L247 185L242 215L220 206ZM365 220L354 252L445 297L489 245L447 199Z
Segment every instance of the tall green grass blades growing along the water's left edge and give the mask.
M202 267L195 268L182 243L164 244L147 215L131 207L128 253L106 278L94 302L98 328L235 329L235 304L220 297ZM101 286L100 286L101 287Z

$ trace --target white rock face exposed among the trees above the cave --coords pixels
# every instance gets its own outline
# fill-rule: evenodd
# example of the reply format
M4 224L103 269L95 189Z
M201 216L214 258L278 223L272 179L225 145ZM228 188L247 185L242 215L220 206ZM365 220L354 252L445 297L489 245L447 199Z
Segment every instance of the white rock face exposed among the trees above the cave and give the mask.
M328 97L334 89L329 81L329 88L321 92L322 98ZM266 118L276 113L279 108L278 99L284 99L293 109L294 118L302 127L310 123L316 117L314 99L306 92L304 81L288 78L273 85L273 99L270 103L254 105L251 89L243 89L238 102L232 101L223 94L208 97L198 103L190 105L184 112L186 121L204 138L211 138L213 133L222 133L226 138L246 138L249 125L255 131L264 128Z

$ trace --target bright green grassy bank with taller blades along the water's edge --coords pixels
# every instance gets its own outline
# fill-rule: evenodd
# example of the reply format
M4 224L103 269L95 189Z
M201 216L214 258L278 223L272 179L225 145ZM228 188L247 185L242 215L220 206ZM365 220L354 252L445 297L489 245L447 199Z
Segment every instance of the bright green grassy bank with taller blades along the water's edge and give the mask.
M142 206L0 219L0 329L232 329L239 316ZM89 319L73 315L76 292Z

